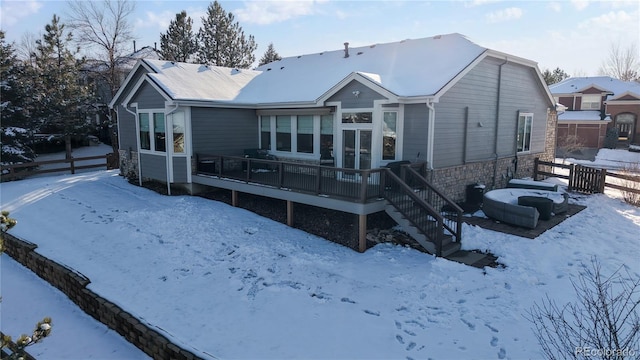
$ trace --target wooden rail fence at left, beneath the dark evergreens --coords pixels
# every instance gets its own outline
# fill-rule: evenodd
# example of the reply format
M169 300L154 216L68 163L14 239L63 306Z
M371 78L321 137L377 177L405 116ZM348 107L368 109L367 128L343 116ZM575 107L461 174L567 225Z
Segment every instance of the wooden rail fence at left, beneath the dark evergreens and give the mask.
M101 159L103 159L104 161L99 161ZM40 168L43 165L52 164L66 164L66 166L46 169ZM71 159L46 160L24 164L2 165L0 169L2 172L2 181L7 181L21 179L36 174L46 174L54 172L71 172L71 174L75 174L78 170L104 167L106 167L107 170L115 169L116 167L118 167L118 159L113 153L80 158L72 157Z

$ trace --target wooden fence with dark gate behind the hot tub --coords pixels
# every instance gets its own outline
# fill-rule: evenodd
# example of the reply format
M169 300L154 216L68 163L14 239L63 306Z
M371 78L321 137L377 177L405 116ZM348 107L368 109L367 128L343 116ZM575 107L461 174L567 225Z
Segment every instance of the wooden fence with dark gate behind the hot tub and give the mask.
M569 170L569 174L557 174L554 168ZM535 159L533 179L538 180L539 176L551 176L569 181L569 191L576 191L585 194L603 193L605 187L617 189L623 192L640 194L640 175L626 175L597 169L579 164L559 164L549 161ZM622 180L622 185L607 182L607 178Z

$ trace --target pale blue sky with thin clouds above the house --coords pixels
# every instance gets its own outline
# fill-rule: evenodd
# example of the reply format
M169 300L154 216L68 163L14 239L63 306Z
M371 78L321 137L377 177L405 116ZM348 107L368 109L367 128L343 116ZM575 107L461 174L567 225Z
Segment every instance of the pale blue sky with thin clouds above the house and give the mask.
M186 10L199 28L210 1L136 1L131 17L137 47L160 46L175 14ZM269 43L281 56L461 33L481 46L595 76L612 44L640 49L640 1L220 1L259 59ZM38 36L53 14L65 21L66 1L1 0L0 28L9 41ZM640 51L640 50L638 50ZM639 54L640 56L640 54Z

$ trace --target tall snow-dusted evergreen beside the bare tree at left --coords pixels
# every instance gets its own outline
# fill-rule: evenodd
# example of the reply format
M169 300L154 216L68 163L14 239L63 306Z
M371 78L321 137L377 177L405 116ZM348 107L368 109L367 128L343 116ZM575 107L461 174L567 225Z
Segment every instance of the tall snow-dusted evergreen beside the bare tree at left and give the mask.
M60 18L53 15L45 26L43 38L36 42L36 94L43 131L61 133L65 137L67 158L71 156L71 139L86 135L89 117L94 113L93 94L81 83L79 74L84 59L77 60L79 49L70 50L73 36L65 31Z

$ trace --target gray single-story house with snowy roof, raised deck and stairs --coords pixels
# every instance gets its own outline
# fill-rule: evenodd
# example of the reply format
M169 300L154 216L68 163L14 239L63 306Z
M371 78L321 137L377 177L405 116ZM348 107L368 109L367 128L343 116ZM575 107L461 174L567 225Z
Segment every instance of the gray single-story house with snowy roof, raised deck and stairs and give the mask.
M553 158L554 104L536 63L448 34L253 70L143 59L110 106L125 176L284 199L288 219L294 203L351 213L361 251L387 211L446 255L470 184Z

